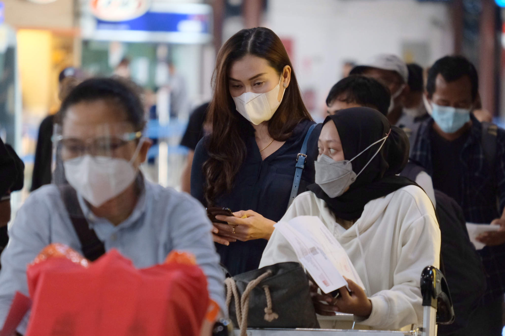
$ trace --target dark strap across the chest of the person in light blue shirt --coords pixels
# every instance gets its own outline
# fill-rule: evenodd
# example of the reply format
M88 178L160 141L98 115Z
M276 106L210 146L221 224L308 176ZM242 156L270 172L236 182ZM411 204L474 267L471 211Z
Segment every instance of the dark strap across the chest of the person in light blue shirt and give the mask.
M94 230L89 228L88 222L84 218L84 214L79 206L75 189L70 185L60 186L59 189L74 230L81 242L82 254L88 260L95 261L105 254L105 245L98 239Z

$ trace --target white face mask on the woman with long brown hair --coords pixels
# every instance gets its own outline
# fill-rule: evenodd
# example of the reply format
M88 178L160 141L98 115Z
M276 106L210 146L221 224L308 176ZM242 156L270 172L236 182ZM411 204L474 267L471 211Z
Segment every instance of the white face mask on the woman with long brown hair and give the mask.
M270 120L275 111L277 111L286 92L284 89L281 101L278 101L277 97L279 96L281 80L282 76L279 79L279 84L269 92L244 92L238 97L232 97L238 113L255 125Z

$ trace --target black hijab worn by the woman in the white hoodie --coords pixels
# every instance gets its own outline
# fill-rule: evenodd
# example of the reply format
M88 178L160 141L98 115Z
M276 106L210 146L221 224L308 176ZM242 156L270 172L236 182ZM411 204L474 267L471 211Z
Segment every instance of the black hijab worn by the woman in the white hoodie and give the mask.
M342 154L346 160L355 158L351 162L352 171L356 175L359 174L349 185L349 189L338 197L330 197L319 184L309 186L309 190L326 201L336 217L356 220L361 217L365 205L372 199L407 185L417 185L406 177L395 175L399 174L409 161L409 139L403 130L390 126L384 115L372 108L355 107L328 116L323 126L327 122L335 124ZM384 142L382 146L381 140ZM374 145L368 148L371 144ZM379 152L377 148L380 148ZM324 153L320 147L320 157L321 155ZM318 177L321 179L321 175L328 172L320 169L319 173L316 183ZM331 188L332 183L329 184L328 187Z

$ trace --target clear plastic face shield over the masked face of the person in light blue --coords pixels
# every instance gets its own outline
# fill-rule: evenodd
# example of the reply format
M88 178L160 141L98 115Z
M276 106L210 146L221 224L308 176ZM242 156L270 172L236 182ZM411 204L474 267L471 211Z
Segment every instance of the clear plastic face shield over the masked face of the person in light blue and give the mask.
M94 208L114 208L113 200L138 177L143 142L129 122L56 124L53 183L61 192L74 189Z

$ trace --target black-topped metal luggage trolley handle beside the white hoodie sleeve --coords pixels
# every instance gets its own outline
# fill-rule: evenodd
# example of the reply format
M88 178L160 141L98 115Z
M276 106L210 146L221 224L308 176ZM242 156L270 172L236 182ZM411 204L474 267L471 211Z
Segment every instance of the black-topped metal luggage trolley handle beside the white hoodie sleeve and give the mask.
M421 296L424 307L422 335L435 336L436 324L450 324L455 319L449 287L438 268L424 268L421 273Z

